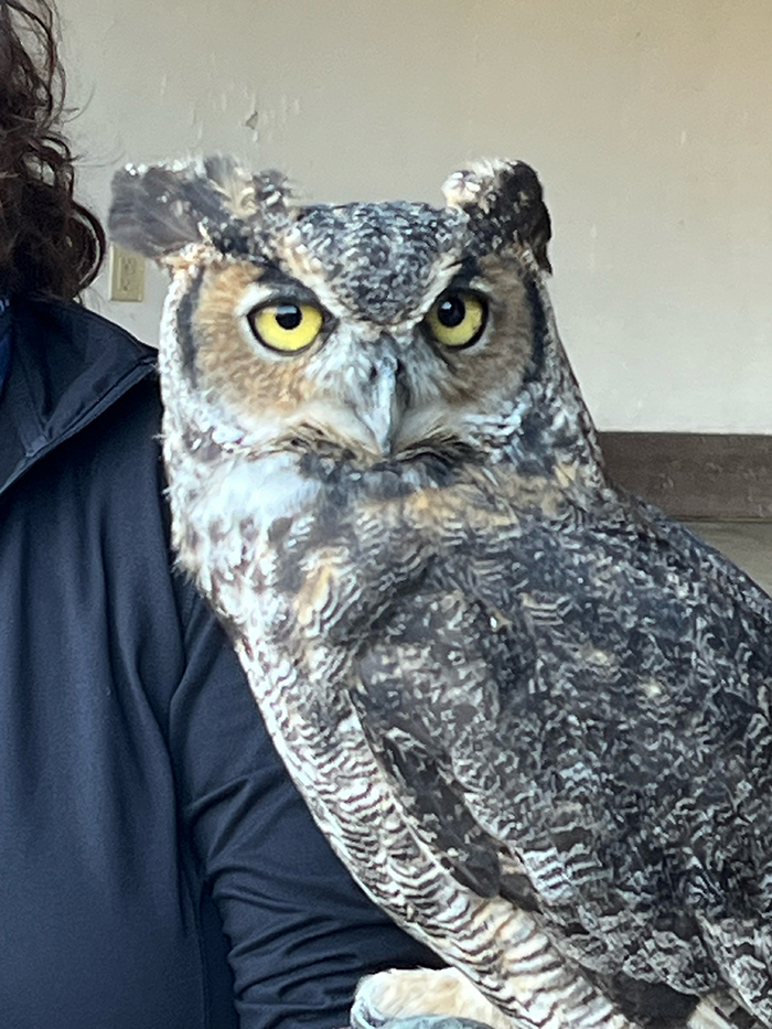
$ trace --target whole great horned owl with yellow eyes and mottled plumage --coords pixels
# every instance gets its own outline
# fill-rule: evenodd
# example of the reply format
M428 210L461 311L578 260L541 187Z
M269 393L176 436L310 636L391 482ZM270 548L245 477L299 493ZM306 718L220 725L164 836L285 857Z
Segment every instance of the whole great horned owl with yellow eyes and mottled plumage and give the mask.
M770 1027L772 601L608 481L532 169L446 201L117 175L112 235L172 274L180 560L339 855L485 1018Z

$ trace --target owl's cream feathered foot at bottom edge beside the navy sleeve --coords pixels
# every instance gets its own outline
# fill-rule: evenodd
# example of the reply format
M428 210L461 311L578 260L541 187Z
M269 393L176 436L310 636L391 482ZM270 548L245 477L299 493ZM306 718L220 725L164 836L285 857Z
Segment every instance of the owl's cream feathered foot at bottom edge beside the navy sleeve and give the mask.
M392 969L363 979L351 1009L352 1029L380 1029L395 1019L411 1019L409 1029L516 1026L454 968Z

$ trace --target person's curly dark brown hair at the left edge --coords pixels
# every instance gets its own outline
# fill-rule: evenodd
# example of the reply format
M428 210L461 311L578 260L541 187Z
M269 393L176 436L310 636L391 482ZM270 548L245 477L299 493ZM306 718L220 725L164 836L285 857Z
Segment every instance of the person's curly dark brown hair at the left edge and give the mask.
M99 270L105 233L73 196L64 69L50 0L0 0L0 296L71 299Z

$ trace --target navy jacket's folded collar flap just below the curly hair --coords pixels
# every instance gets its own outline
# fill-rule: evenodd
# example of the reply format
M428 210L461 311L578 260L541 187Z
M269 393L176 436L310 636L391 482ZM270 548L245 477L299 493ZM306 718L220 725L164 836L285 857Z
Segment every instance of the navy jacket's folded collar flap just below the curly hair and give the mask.
M0 398L0 494L154 366L154 351L76 303L13 300Z

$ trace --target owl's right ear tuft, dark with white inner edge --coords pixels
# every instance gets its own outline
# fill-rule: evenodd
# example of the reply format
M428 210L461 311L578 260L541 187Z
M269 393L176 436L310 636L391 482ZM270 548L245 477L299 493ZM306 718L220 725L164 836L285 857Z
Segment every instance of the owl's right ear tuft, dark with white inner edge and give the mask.
M442 187L449 207L463 211L489 242L519 243L543 271L551 272L547 244L553 235L542 183L522 161L478 161L454 172Z

